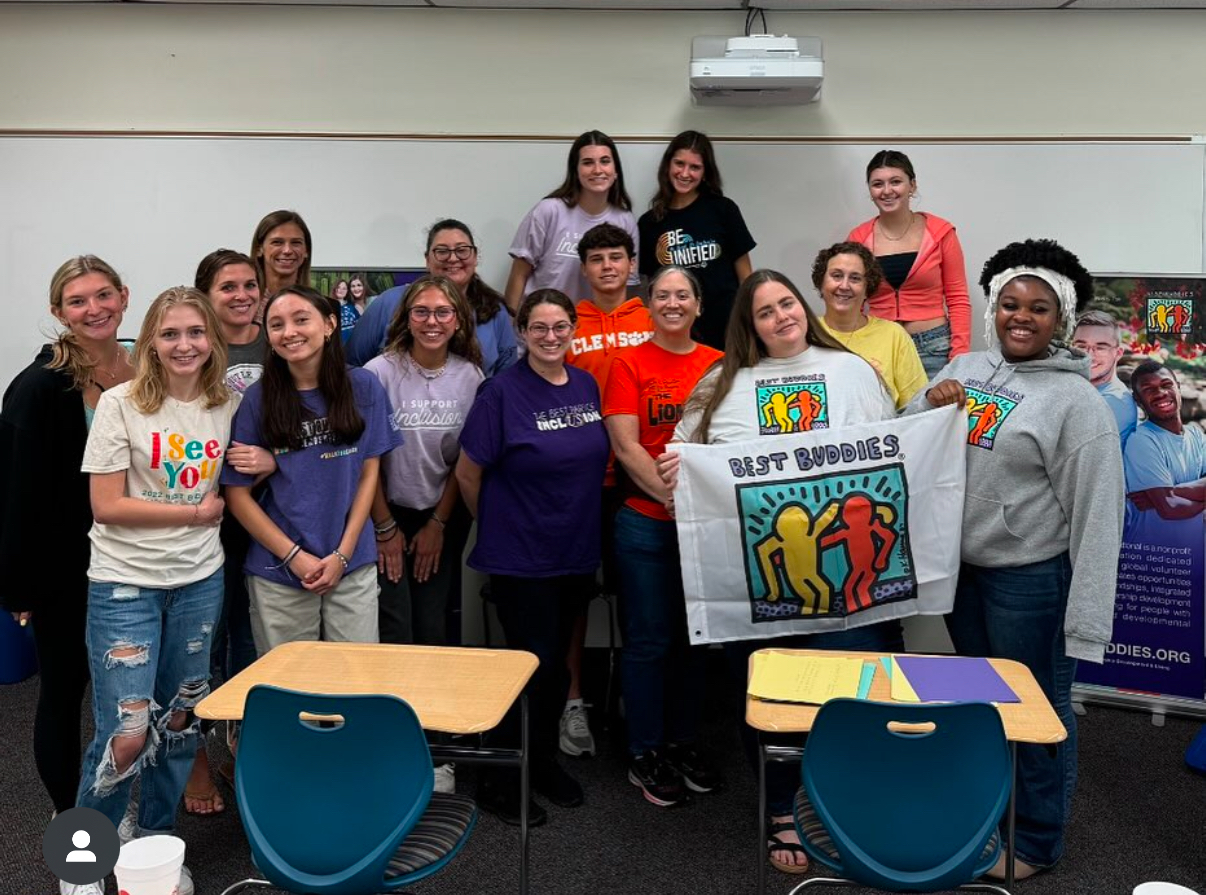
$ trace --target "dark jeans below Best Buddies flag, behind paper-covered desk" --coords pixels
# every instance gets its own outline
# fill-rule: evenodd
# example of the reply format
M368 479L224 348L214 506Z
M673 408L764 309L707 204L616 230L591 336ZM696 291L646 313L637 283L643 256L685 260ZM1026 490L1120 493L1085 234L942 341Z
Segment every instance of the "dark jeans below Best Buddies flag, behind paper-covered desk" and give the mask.
M749 677L750 654L760 649L832 649L859 653L903 653L904 632L898 620L877 621L874 625L853 627L848 631L825 631L816 634L790 634L765 640L732 640L725 644L725 659L734 682L745 692ZM771 745L800 745L803 737L791 733L763 733ZM757 735L742 719L742 745L745 756L757 773ZM766 766L766 807L771 817L791 814L800 786L800 765L790 761L771 761Z

